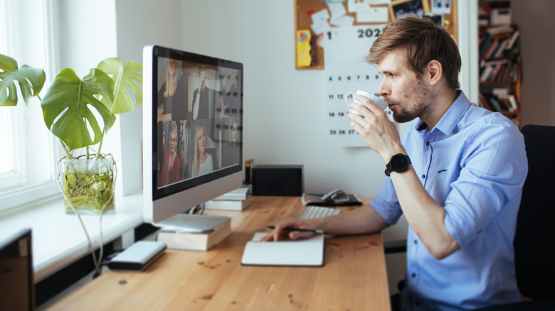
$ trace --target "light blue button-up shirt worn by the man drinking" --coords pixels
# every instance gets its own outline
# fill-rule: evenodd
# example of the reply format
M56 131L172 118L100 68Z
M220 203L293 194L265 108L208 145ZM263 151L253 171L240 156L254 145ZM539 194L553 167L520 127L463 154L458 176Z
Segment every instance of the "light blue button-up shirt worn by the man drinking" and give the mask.
M436 260L409 226L406 283L414 310L519 301L512 241L528 163L517 126L460 92L433 129L416 119L401 143L460 246ZM391 178L370 204L389 224L402 214Z

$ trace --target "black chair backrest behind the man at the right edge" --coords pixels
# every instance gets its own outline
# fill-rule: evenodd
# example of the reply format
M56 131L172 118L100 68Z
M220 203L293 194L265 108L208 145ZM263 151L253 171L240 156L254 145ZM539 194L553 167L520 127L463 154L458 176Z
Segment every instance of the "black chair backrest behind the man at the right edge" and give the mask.
M522 190L514 237L517 283L529 298L555 295L555 126L521 130L528 175Z

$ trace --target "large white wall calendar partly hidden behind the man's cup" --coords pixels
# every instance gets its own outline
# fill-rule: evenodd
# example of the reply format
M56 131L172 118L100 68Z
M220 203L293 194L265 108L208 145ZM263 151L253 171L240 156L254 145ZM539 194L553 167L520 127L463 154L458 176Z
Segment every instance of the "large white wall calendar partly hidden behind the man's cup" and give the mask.
M345 94L363 90L378 96L381 75L365 58L384 25L330 28L324 33L324 71L326 79L327 136L339 146L366 147L349 125ZM351 95L349 95L350 97ZM347 98L352 102L352 98ZM386 108L389 119L391 110Z

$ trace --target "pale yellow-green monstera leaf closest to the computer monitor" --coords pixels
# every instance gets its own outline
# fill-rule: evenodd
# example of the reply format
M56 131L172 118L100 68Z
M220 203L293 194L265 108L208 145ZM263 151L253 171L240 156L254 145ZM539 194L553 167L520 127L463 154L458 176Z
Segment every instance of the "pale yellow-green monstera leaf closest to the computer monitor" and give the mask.
M114 81L114 102L109 107L112 114L122 114L135 109L134 102L129 96L127 87L130 87L137 99L137 106L142 103L142 64L130 61L123 67L119 58L107 58L98 64L98 69L106 72ZM141 85L137 84L140 83ZM103 103L107 104L104 100Z

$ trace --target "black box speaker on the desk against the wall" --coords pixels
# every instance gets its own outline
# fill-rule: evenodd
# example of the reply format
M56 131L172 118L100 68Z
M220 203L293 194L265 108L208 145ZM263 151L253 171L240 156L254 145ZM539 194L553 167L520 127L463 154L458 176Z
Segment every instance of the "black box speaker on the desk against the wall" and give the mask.
M253 195L300 197L305 191L302 165L255 165Z

